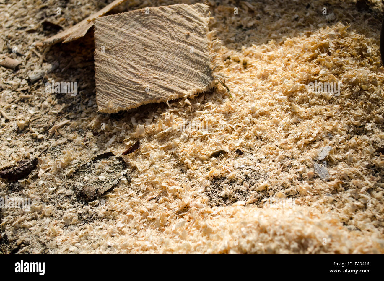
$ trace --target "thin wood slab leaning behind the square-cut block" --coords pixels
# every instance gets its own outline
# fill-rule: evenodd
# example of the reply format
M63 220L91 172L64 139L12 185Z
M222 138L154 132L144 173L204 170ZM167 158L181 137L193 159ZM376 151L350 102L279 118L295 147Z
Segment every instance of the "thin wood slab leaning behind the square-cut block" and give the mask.
M121 3L125 2L126 0L115 0L103 9L101 9L99 12L94 13L93 15L90 15L88 18L85 18L84 20L80 21L78 24L68 28L67 30L61 31L60 33L51 36L50 38L47 38L43 41L44 45L51 45L55 43L68 43L70 41L76 40L80 37L83 37L89 28L93 26L94 20L98 17L101 17L105 13L108 13L110 10L112 10L114 7L120 5Z

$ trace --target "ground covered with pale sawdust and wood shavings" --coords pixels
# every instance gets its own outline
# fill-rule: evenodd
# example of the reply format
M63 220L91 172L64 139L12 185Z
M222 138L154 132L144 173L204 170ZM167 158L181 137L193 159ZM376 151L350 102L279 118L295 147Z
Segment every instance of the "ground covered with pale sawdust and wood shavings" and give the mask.
M32 201L2 208L0 252L384 253L381 1L207 1L222 44L215 74L230 94L218 84L105 114L92 30L38 42L58 32L44 21L65 29L109 2L0 0L0 52L22 62L0 67L0 166L51 147L26 179L0 180L0 198ZM112 13L181 2L197 1L127 1ZM46 93L52 79L76 82L77 95ZM314 81L341 83L339 95ZM186 122L206 127L179 130ZM106 149L117 157L88 165L82 181L119 183L86 203L76 169Z

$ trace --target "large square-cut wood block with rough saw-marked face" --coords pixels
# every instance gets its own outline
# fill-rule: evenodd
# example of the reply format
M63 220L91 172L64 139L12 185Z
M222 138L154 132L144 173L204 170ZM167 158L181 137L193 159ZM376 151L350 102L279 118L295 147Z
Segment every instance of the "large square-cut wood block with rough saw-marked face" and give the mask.
M207 5L144 8L95 21L96 101L113 113L213 85Z

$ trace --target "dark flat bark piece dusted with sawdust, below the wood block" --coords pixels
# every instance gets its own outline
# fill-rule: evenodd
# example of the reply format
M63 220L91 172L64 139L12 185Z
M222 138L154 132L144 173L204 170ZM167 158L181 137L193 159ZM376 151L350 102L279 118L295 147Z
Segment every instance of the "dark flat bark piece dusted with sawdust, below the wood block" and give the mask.
M126 166L121 158L106 151L79 166L73 177L78 179L76 191L79 197L89 202L118 185L120 180L130 182L131 178L126 174Z

